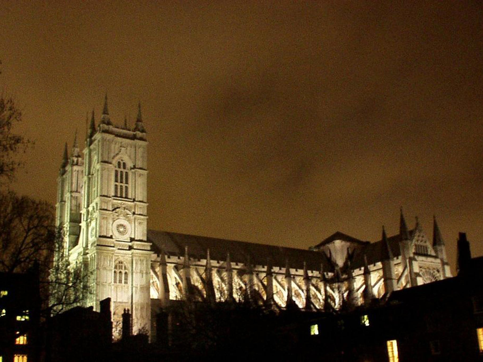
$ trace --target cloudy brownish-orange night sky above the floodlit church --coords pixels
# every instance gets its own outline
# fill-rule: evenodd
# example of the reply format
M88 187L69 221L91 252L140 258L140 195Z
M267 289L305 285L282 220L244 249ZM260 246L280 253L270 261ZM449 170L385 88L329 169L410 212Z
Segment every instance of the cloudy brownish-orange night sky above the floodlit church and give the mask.
M63 144L149 139L149 227L307 248L398 232L483 254L482 1L10 1L0 84L35 139L15 190L55 202Z

